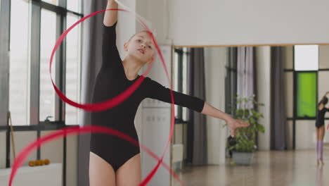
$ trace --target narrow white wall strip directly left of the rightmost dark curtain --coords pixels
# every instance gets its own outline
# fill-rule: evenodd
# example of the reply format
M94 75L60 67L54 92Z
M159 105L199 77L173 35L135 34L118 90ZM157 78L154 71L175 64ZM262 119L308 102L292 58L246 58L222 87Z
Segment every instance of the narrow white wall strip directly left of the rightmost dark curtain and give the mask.
M259 111L264 118L259 119L259 123L264 125L265 133L259 132L259 150L269 150L271 147L271 47L256 47L257 66L257 99L265 106L261 106Z

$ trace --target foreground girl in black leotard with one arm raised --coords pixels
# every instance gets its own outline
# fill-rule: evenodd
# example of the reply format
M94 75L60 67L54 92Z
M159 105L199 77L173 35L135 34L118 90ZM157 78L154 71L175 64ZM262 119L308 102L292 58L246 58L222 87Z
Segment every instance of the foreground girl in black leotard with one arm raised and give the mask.
M115 0L108 0L106 9L118 8ZM123 59L117 51L117 11L106 11L103 20L103 63L93 89L93 102L117 96L131 86L140 75L138 71L153 61L155 45L148 32L138 32L124 43L127 56ZM199 113L226 120L231 135L238 127L249 125L234 120L197 97L173 92L175 104ZM101 125L133 137L138 141L134 117L138 105L145 98L171 103L170 90L146 77L136 92L118 106L107 111L91 113L91 125ZM141 155L139 147L118 137L92 134L90 143L89 180L91 186L138 185L141 182Z

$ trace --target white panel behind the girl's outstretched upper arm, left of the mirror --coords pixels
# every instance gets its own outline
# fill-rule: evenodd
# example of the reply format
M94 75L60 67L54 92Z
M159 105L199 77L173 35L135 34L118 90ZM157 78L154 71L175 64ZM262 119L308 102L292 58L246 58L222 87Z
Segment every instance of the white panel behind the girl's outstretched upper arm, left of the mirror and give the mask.
M172 48L171 46L160 46L160 50L162 51L164 62L166 63L169 77L171 79ZM156 56L153 68L147 76L152 80L159 82L164 87L169 87L167 75L164 71L159 55ZM162 156L170 132L171 105L155 99L145 99L141 104L141 113L141 131L139 133L141 136L139 137L140 142L157 154L157 156ZM170 166L170 150L171 148L169 147L163 160L168 166ZM141 163L142 177L146 178L146 175L148 175L148 173L150 173L150 171L156 166L157 161L146 152L142 151ZM149 185L169 186L169 172L160 166Z

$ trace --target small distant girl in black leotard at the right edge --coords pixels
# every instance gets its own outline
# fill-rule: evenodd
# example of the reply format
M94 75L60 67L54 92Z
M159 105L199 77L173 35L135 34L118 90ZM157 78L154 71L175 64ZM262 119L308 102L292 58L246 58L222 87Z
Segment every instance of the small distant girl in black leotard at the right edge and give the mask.
M325 93L324 97L318 103L318 112L316 114L316 155L318 165L323 165L323 137L325 135L324 116L325 112L329 111L329 108L325 108L328 104L328 98L326 97L329 92Z

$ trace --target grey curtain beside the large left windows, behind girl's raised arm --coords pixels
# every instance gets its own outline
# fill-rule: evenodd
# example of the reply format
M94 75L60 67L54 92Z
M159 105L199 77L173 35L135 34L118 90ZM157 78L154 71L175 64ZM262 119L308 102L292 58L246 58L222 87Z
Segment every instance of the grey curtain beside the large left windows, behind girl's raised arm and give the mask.
M84 15L103 10L107 1L84 0ZM82 103L91 103L93 84L101 68L102 26L104 13L99 13L83 23L82 44ZM90 113L82 113L82 124L90 124ZM89 185L89 140L90 135L79 135L78 185Z

